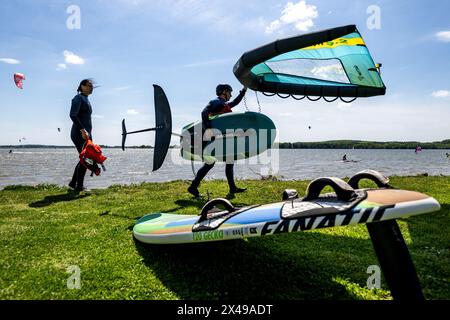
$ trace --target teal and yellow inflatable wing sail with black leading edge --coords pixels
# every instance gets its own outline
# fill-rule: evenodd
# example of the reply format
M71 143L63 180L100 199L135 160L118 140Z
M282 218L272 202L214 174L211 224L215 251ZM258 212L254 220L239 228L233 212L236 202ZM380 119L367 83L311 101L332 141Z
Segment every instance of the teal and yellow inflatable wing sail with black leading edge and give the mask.
M379 67L355 25L281 39L248 51L233 72L250 89L283 98L336 97L324 98L334 101L386 92Z

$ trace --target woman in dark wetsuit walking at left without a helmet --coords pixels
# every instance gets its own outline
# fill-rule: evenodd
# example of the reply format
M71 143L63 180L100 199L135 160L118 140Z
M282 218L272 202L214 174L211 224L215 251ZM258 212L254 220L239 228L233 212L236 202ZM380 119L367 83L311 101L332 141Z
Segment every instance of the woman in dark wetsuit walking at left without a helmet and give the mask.
M72 139L78 153L83 150L83 145L87 139L92 140L92 107L88 100L88 96L92 94L94 86L92 80L84 79L78 86L78 94L72 99L72 106L70 108L70 119L73 121L70 138ZM78 162L73 172L72 180L69 187L76 191L85 190L84 176L86 174L86 167Z

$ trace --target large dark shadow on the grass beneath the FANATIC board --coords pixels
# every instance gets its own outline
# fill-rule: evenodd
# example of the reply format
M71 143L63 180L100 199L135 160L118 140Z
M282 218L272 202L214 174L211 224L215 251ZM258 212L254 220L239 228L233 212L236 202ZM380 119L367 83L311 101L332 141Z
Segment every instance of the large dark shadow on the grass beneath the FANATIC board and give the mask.
M180 299L355 299L333 277L365 284L367 267L376 261L370 240L310 232L248 241L135 244L144 263ZM347 261L364 255L356 265Z

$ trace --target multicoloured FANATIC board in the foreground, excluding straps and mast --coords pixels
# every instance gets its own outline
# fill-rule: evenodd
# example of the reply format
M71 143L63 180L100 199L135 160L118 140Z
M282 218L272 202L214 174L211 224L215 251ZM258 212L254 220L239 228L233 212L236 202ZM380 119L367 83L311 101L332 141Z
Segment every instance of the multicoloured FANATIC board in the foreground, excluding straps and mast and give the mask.
M364 192L367 197L351 208L349 202L333 201L327 194L312 201L287 200L239 208L238 213L230 215L219 211L200 223L198 215L152 213L136 222L133 234L139 241L155 244L221 241L372 223L440 209L434 198L419 192L398 189ZM334 210L328 213L317 211L330 207Z

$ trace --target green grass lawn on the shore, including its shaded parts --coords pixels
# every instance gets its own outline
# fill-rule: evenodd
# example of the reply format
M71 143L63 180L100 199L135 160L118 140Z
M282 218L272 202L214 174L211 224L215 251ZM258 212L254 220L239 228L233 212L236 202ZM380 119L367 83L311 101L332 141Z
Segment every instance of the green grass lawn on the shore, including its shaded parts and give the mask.
M427 193L439 212L399 220L427 299L450 298L450 177L393 177ZM278 201L308 181L241 181L235 205ZM196 214L186 181L112 186L75 195L52 185L0 191L0 299L391 299L366 286L378 264L364 225L206 244L156 246L135 241L138 217ZM227 194L225 181L201 192ZM68 289L79 266L81 289Z

